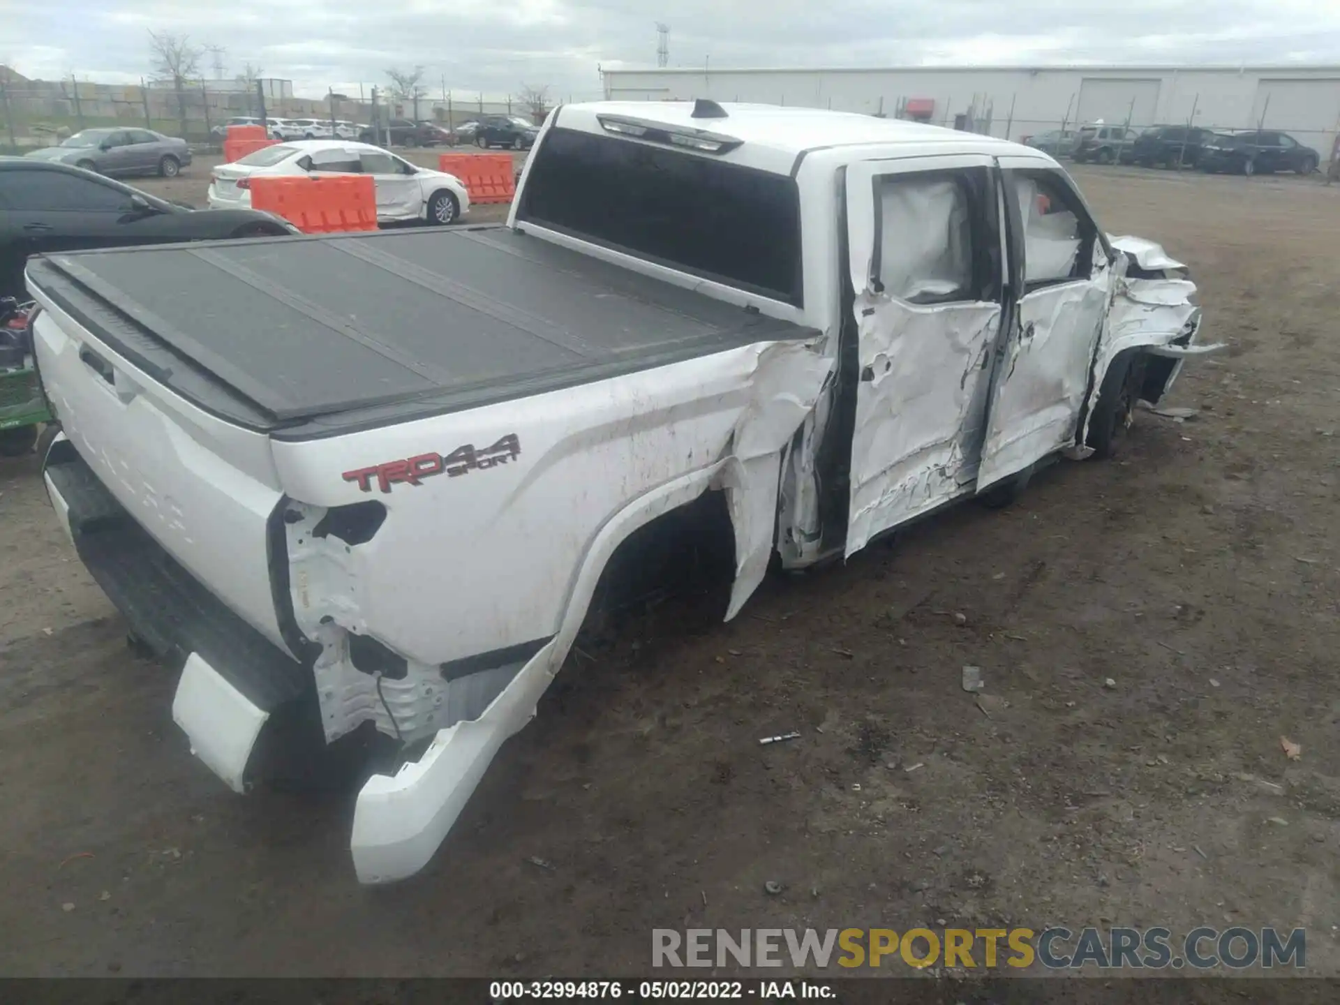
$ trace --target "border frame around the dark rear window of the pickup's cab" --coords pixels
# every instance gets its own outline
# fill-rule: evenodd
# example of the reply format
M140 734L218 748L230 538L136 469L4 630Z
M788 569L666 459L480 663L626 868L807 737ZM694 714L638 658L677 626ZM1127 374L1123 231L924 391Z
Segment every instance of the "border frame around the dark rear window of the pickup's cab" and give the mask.
M482 126L481 126L482 127ZM758 285L756 283L749 283L746 280L729 276L726 273L714 272L708 268L694 267L689 263L677 261L674 259L667 259L661 255L654 255L651 252L639 251L636 248L618 244L612 240L607 240L599 234L590 233L588 230L579 230L565 224L559 224L551 220L545 220L535 214L535 208L532 200L536 198L536 192L539 186L535 184L536 176L543 172L543 161L547 150L552 146L555 137L574 137L592 145L606 145L616 143L634 147L642 147L653 151L654 154L661 154L671 158L683 158L687 161L701 161L705 163L716 163L726 168L732 172L741 172L754 174L762 178L777 180L787 186L788 194L795 209L795 253L791 261L791 281L789 289L775 289L772 287ZM622 149L622 147L610 147ZM570 129L565 126L552 126L545 137L545 141L536 149L531 157L533 165L531 184L528 184L521 190L521 201L516 208L516 222L517 224L533 224L535 226L541 226L553 233L571 237L574 240L584 241L599 248L606 248L607 251L618 252L619 255L627 255L630 259L636 259L638 261L645 261L651 265L659 265L662 268L678 272L686 276L695 276L698 279L705 279L710 283L718 283L722 287L730 289L737 289L744 293L752 293L776 303L788 304L796 308L804 308L805 303L805 276L804 276L804 228L801 222L801 205L800 205L800 188L796 184L795 177L775 174L772 172L762 172L756 168L746 168L732 161L722 161L712 154L697 154L687 150L678 150L674 147L663 146L661 143L649 143L639 139L606 135L602 133L591 133L582 129ZM536 170L537 169L537 170Z

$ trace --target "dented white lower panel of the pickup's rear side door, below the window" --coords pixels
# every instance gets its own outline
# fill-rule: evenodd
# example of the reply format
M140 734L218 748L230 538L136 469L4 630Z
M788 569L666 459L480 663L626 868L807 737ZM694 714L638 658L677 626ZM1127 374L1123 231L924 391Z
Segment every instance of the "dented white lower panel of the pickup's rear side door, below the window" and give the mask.
M872 293L858 296L855 311L862 379L848 556L970 486L1001 320L998 304L919 307Z

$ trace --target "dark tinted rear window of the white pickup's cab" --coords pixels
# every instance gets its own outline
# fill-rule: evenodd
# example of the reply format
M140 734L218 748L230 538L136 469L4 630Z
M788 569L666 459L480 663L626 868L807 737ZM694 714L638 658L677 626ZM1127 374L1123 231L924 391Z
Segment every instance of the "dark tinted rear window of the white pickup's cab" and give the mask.
M551 129L517 218L800 306L800 196L783 174Z

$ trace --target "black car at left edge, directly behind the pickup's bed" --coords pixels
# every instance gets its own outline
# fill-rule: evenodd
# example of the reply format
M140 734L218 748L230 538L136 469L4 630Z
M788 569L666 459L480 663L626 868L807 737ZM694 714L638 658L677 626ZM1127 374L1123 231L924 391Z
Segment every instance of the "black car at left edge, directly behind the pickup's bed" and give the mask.
M23 293L29 255L289 233L260 210L197 212L79 168L0 157L0 296Z

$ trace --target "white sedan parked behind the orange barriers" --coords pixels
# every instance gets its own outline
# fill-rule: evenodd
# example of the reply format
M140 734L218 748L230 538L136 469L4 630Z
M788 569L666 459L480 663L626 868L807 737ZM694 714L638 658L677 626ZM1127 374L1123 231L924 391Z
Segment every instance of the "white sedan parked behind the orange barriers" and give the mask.
M389 150L348 139L306 139L267 146L240 161L214 168L210 209L251 206L251 180L257 176L371 174L378 222L426 220L450 224L470 212L470 196L454 174L419 168Z

